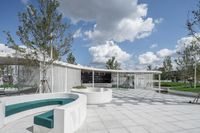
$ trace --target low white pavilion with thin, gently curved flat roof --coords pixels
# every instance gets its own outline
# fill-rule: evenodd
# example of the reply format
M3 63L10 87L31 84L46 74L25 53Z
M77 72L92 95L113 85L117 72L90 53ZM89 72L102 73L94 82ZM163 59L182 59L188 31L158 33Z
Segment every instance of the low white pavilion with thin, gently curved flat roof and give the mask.
M20 61L10 57L0 57L0 64L13 65L15 75L23 70ZM40 69L34 66L31 70L33 76L27 84L39 85ZM80 65L72 65L56 61L49 67L47 81L52 92L69 92L76 86L129 88L129 89L160 89L160 71L147 70L108 70ZM25 73L19 76L30 75ZM28 78L27 78L28 79Z

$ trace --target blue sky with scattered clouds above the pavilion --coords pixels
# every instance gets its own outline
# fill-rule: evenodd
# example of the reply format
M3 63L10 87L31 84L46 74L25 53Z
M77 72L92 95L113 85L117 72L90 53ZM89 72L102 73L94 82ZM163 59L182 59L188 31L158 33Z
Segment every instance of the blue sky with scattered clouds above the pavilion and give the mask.
M116 0L116 3L111 0L109 7L109 4L104 5L106 3L103 1L100 4L98 3L98 6L91 0L86 0L86 4L81 3L81 0L74 0L73 2L70 0L60 1L62 3L60 11L64 13L66 18L72 20L71 28L76 32L72 51L77 62L82 65L102 67L106 59L111 56L117 56L122 67L127 69L133 69L136 66L138 68L147 64L158 65L165 56L162 55L163 53L166 52L166 55L172 55L178 45L177 41L188 35L185 26L188 12L196 9L198 2L198 0L133 0L137 4L129 6L131 0L125 0L123 4L120 3L120 0ZM32 3L35 1L1 0L0 43L6 43L6 36L2 32L3 30L10 31L12 34L15 33L19 25L18 12L25 10L27 2ZM112 4L116 5L114 7L117 8L111 10ZM122 8L118 7L119 4L121 4ZM139 7L141 4L146 4L146 6ZM97 6L98 8L89 8L92 10L91 13L88 12L87 5L88 7ZM137 11L134 8L137 7L141 8L142 11L146 11L147 14L134 13L134 11ZM106 13L104 13L104 9L107 11ZM125 9L127 11L124 11ZM77 10L80 10L81 13L78 14ZM132 13L128 12L129 10ZM109 15L110 12L112 13L111 15ZM115 14L115 12L118 12L119 15ZM136 17L137 20L141 20L139 22L143 24L139 28L134 25L136 22L135 17L132 17L134 15L138 16ZM110 19L112 16L116 21ZM106 17L108 18L106 19ZM125 21L124 18L128 18L128 21ZM148 22L147 19L149 19ZM118 26L113 26L114 24ZM100 32L100 35L96 35L94 32L95 25L96 31ZM136 28L129 30L128 27L127 30L124 30L124 28L120 30L120 25L125 28L127 25L130 28ZM107 31L105 30L106 28L108 29ZM137 30L137 32L134 30ZM138 37L140 34L143 37ZM16 37L15 39L17 40ZM107 53L102 55L101 53L105 51L103 49L107 50Z

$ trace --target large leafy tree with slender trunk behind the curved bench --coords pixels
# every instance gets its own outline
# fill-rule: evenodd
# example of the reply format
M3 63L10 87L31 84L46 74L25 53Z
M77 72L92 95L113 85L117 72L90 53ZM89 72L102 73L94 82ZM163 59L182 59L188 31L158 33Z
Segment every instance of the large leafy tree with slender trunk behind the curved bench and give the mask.
M46 92L47 69L68 53L73 38L66 32L69 24L63 22L62 14L57 11L59 2L38 0L38 3L37 7L27 5L26 11L19 13L20 25L16 35L25 48L17 45L9 32L6 34L9 46L18 51L24 60L40 65L40 91Z

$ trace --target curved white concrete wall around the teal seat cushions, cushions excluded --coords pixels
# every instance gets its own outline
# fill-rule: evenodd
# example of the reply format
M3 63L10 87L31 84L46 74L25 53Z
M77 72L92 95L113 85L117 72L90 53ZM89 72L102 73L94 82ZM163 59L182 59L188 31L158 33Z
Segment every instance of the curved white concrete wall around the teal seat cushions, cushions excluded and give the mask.
M76 100L59 107L55 105L45 106L5 117L6 105L52 98L73 98ZM44 112L54 108L54 128L49 131L49 129L46 129L45 127L40 127L36 125L34 126L34 132L46 133L45 131L48 131L52 133L73 133L81 126L81 124L85 120L87 110L86 101L86 96L76 93L33 94L0 98L0 128L11 121L15 121L25 116ZM63 121L62 119L65 121ZM70 124L70 128L68 129L70 131L66 131L65 129L65 126L69 126L68 123Z

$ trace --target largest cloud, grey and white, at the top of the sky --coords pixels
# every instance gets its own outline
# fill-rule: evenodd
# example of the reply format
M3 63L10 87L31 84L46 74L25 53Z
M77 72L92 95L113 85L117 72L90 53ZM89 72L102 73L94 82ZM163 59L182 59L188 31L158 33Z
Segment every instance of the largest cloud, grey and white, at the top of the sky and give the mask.
M60 0L60 11L73 23L94 22L85 36L93 43L134 41L149 36L155 26L147 5L138 0Z

